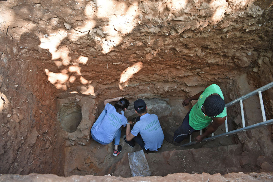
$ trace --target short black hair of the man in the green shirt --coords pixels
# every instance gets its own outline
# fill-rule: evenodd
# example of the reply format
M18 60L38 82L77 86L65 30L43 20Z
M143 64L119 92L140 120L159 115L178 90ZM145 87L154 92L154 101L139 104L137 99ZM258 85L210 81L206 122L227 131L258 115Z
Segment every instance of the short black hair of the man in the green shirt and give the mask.
M203 104L207 116L217 116L225 108L225 101L218 95L208 96Z

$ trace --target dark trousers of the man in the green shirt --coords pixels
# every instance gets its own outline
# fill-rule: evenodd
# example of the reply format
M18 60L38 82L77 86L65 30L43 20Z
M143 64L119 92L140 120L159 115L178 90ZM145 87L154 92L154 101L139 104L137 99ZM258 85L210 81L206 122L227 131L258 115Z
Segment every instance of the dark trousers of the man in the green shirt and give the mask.
M179 128L177 128L174 132L174 141L177 143L180 143L182 140L188 138L192 132L199 131L199 130L194 130L190 126L189 116L190 116L190 111L184 117L184 120L181 126L179 126Z

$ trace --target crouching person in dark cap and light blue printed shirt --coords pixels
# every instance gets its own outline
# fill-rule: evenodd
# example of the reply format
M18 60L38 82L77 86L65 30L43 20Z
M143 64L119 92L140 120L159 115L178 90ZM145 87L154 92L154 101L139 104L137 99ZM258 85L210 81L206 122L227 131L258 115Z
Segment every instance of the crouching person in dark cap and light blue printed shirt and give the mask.
M134 102L134 108L138 117L132 131L132 121L126 123L126 136L123 137L125 143L133 148L136 142L146 152L157 151L164 140L157 115L147 113L146 103L142 99Z

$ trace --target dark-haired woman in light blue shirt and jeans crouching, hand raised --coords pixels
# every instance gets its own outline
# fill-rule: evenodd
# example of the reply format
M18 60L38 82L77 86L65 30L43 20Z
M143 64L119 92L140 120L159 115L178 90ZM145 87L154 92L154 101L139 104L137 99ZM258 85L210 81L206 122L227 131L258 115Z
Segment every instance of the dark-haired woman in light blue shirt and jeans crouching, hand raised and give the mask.
M111 105L110 102L116 101L115 105ZM129 101L122 97L116 97L113 99L106 99L104 102L104 110L99 115L96 122L91 128L91 136L96 142L106 145L114 140L114 156L117 156L122 147L120 144L121 126L125 126L128 122L124 116L129 106Z

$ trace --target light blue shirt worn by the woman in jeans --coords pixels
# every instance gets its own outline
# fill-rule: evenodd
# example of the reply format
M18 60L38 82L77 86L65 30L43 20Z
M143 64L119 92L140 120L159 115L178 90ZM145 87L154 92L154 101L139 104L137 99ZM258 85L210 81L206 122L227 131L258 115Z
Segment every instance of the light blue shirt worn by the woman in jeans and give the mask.
M122 126L126 125L127 119L122 114L116 112L116 108L111 104L107 103L104 107L107 113L103 120L98 123L92 134L96 139L104 142L111 143L115 137L116 131Z

